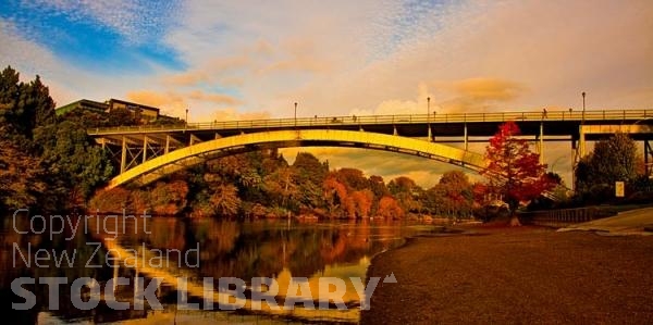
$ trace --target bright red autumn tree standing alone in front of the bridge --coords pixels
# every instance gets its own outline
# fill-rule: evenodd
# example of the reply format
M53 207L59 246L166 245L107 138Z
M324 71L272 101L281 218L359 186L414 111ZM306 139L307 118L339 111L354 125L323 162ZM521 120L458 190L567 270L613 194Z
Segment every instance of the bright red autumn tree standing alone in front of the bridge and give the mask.
M522 201L530 201L553 187L545 175L546 165L532 152L526 139L518 138L519 127L514 122L502 124L490 139L481 173L490 180L490 188L503 197L510 209L510 225L520 225L516 210Z

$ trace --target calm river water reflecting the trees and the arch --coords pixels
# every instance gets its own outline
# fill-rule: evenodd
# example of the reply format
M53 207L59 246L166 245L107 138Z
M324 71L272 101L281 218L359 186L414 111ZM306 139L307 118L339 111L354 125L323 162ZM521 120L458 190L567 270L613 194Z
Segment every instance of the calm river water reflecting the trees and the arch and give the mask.
M2 218L0 228L1 312L4 317L27 324L357 322L361 297L355 279L360 278L366 285L371 258L401 245L406 236L429 229L373 221L9 215ZM34 295L34 305L25 311L16 311L10 303L26 302L15 293L16 288L12 290L12 282L19 277L34 279L33 284L22 285L29 292L21 296ZM278 290L252 286L251 279L258 277L273 280ZM306 308L307 300L312 300L316 308L321 302L321 277L342 279L344 287L337 292L346 309L338 310L334 300L328 310L312 310L310 301ZM46 278L59 278L63 284L51 286ZM85 286L75 287L73 284L79 278L87 278ZM118 278L125 278L126 283L116 285ZM152 278L161 280L160 286L151 286L159 308L149 300L134 298L138 297L138 288L152 285ZM207 278L213 283L207 285ZM312 299L299 300L293 309L284 310L284 299L289 295L288 288L293 288L289 285L296 285L297 278L304 278L305 287L299 286L296 293L306 296L303 290L308 287ZM223 297L215 292L220 292L221 279L226 284L222 289L244 292L243 300L225 300L242 303L242 308L224 311L220 307ZM59 292L53 292L52 287L58 287ZM109 287L114 288L114 300L107 298ZM77 292L75 297L82 292L81 302L95 299L97 305L78 308L72 302L75 297L71 292ZM250 299L256 292L275 293L273 301L281 309L271 309L267 302L256 308ZM207 297L213 299L212 307ZM180 299L196 303L199 310L183 309ZM126 303L127 308L116 310L108 300Z

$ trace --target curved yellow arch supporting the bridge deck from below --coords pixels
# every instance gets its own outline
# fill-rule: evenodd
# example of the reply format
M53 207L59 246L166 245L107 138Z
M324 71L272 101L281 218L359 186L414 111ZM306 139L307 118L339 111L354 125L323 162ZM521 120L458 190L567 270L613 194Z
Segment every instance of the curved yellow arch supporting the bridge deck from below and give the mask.
M162 176L201 163L207 158L291 147L355 147L419 155L473 171L486 166L482 154L414 138L342 129L273 130L219 138L171 151L115 176L107 188L128 183L147 185Z

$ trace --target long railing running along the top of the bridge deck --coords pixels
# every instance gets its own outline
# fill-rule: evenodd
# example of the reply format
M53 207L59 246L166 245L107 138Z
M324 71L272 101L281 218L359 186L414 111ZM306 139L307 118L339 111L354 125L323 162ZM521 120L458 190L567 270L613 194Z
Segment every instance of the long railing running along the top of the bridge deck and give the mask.
M506 121L637 121L653 117L653 110L604 110L604 111L551 111L551 112L488 112L488 113L436 113L401 114L401 115L341 115L313 116L298 118L269 118L247 121L213 121L188 123L186 125L138 125L116 126L89 129L90 135L128 132L156 130L196 130L196 129L247 129L247 128L283 128L335 125L379 125L379 124L443 124L443 123L479 123Z

